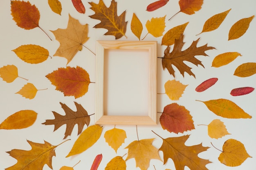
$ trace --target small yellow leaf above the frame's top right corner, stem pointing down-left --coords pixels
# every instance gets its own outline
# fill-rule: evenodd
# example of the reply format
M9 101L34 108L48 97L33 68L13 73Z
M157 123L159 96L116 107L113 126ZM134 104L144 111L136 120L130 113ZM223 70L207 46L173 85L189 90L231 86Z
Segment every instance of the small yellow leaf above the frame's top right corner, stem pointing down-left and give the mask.
M150 33L154 37L162 36L165 28L165 16L159 18L152 18L150 21L148 20L146 22L146 28L148 30L148 33Z

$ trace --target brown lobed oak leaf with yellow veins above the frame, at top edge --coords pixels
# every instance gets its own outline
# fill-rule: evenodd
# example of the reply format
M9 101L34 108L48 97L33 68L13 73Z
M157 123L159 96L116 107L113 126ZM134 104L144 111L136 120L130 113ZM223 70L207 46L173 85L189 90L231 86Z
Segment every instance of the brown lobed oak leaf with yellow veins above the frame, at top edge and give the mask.
M106 28L108 30L104 35L114 35L115 39L125 36L127 22L125 21L124 11L121 15L117 16L117 2L111 1L110 7L106 7L103 0L99 0L99 4L89 2L95 14L90 15L91 18L101 20L101 22L94 26L94 28ZM126 36L125 36L126 37Z

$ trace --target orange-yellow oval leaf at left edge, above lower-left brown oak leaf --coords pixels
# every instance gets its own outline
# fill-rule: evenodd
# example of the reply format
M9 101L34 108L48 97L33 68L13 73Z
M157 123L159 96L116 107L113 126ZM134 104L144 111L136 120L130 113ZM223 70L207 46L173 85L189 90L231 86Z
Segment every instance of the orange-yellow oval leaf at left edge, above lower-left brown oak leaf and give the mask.
M18 111L0 124L0 129L24 129L36 121L37 113L32 110Z

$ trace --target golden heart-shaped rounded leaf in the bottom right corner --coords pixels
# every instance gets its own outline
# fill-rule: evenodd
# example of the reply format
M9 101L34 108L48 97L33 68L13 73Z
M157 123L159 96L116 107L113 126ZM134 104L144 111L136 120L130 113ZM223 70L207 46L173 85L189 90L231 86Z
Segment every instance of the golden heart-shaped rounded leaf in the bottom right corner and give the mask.
M245 146L236 139L228 139L222 147L219 161L226 166L240 166L247 158L251 157L245 150Z

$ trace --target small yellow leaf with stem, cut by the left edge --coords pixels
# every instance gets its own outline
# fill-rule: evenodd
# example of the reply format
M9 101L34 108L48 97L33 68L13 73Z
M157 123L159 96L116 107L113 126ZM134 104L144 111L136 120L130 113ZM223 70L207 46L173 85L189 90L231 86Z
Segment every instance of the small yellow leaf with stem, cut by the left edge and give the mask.
M18 76L18 68L15 65L6 65L0 68L0 77L7 83L13 82ZM22 77L20 77L22 78ZM26 78L23 78L27 80Z

